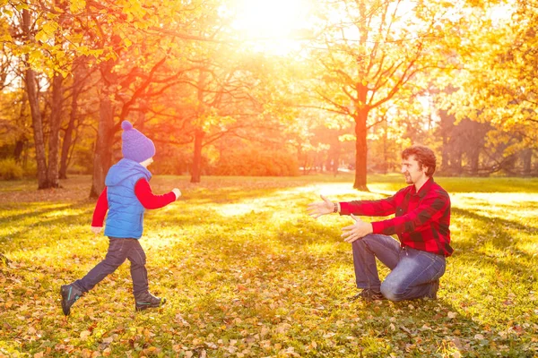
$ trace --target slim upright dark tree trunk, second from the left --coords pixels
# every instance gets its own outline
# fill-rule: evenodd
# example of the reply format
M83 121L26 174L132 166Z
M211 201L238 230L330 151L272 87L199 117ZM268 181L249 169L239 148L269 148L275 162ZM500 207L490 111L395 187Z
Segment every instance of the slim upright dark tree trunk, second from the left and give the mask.
M58 153L60 147L60 123L62 119L62 98L64 77L56 73L52 80L52 105L50 110L50 134L48 136L48 185L58 188Z

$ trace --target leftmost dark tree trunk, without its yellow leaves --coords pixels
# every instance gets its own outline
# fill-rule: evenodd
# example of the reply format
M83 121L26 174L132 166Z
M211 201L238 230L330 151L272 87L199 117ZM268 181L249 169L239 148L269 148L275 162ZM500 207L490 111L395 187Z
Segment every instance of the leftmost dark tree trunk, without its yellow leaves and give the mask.
M22 32L30 38L30 13L28 10L22 11ZM45 142L43 141L43 122L41 111L39 109L39 94L36 88L36 75L28 66L24 81L26 84L26 93L28 93L28 102L30 104L31 124L34 132L34 144L36 148L36 161L38 164L38 189L47 189L47 158L45 157Z

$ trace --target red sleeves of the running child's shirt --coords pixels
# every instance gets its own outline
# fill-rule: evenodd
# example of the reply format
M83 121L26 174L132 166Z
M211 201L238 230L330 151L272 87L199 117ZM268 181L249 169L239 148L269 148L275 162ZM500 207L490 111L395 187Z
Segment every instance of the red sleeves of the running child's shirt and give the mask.
M155 195L152 192L152 187L145 179L140 179L134 185L134 194L145 209L159 209L167 206L170 202L176 200L174 192L168 192L163 195ZM95 210L93 210L93 218L91 226L101 227L105 221L105 216L108 211L107 187L101 192Z

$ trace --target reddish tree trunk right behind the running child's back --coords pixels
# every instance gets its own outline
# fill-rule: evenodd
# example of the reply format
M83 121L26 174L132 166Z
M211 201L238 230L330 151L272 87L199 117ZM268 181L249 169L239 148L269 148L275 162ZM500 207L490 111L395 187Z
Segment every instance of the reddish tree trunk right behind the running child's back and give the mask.
M105 189L105 178L112 163L112 145L114 140L114 108L108 92L103 91L100 98L99 126L93 157L93 177L91 179L90 197L97 198Z

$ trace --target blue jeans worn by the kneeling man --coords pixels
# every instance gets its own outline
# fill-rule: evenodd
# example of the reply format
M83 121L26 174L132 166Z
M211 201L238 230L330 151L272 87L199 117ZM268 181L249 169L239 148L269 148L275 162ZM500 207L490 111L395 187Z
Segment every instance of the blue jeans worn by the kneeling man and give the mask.
M438 279L445 273L442 255L405 246L390 236L368 234L352 243L357 287L381 292L391 301L435 297ZM376 258L391 272L381 283Z

